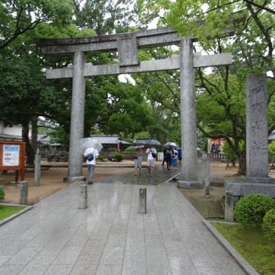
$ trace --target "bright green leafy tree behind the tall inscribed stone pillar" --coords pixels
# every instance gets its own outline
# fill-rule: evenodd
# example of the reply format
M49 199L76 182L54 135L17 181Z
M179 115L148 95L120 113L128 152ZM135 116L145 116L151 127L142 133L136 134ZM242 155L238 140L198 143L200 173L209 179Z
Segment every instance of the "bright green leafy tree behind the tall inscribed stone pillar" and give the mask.
M230 67L217 67L212 70L212 75L197 69L197 125L207 137L226 138L239 157L239 173L245 174L245 152L241 151L240 142L245 140L244 83L248 74L272 72L269 75L268 94L269 102L274 106L272 1L142 2L146 3L144 6L148 10L164 9L165 14L159 25L168 24L182 36L197 37L197 45L206 53L233 53L234 63ZM239 13L233 14L233 11ZM224 36L225 28L235 28L232 39ZM270 115L269 131L272 131L274 111ZM234 142L230 142L231 138Z

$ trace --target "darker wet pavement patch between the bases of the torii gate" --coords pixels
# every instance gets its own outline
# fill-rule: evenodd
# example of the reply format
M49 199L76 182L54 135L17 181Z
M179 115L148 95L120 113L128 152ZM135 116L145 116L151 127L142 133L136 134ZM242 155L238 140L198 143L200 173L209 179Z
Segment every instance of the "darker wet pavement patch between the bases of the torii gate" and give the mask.
M95 182L104 183L104 184L136 184L136 185L159 185L167 181L168 179L172 179L179 173L172 172L167 170L166 166L157 165L155 166L153 176L148 175L147 168L142 169L142 175L137 174L135 176L135 171L129 173L124 173L118 176L105 177L104 179L98 179Z

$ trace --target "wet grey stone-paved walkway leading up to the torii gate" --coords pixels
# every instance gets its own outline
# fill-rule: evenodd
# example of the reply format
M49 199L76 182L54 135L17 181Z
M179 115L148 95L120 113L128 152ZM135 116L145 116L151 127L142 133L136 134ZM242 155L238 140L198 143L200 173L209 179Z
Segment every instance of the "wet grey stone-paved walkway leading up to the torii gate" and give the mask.
M146 214L137 214L133 175L133 184L88 186L85 210L79 182L43 199L0 227L0 274L246 274L179 190L162 184L164 175L155 175L161 185L146 185Z

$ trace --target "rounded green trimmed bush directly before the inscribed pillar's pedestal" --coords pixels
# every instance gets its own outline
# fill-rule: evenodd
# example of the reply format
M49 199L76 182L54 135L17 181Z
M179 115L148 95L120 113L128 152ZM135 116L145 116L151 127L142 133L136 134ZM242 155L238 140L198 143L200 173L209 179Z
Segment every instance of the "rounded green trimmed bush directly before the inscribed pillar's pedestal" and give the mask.
M250 194L236 203L234 217L242 225L262 225L265 213L272 208L275 208L275 200L272 197Z

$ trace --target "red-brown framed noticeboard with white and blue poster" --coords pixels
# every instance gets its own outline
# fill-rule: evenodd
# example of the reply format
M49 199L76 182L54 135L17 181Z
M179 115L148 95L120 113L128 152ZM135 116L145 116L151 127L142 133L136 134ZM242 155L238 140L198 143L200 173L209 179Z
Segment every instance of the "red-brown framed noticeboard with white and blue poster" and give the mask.
M21 171L24 180L25 142L0 141L0 170Z

